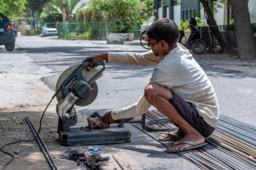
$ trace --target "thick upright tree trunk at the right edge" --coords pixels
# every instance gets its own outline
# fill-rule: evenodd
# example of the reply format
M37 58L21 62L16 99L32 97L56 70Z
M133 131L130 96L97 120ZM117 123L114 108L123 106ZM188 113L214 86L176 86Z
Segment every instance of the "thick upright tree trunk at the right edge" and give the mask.
M238 57L241 59L256 59L255 40L248 9L248 0L230 0L234 15L236 44Z

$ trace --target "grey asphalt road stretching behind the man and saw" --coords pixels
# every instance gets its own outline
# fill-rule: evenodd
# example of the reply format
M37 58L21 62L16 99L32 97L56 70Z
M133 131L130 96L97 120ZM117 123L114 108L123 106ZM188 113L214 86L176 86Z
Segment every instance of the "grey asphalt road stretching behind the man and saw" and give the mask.
M106 51L145 51L141 46L110 45L105 41L67 41L41 37L18 38L16 44L19 46L17 52L28 54L36 65L52 69L49 76L42 79L53 90L59 75L68 67L79 65L87 56ZM214 85L221 114L256 126L256 119L252 119L256 111L255 65L230 61L225 64L221 60L205 62L200 59L198 62L202 63L201 67ZM152 69L106 63L104 76L97 81L98 97L87 108L110 110L136 102L150 79Z

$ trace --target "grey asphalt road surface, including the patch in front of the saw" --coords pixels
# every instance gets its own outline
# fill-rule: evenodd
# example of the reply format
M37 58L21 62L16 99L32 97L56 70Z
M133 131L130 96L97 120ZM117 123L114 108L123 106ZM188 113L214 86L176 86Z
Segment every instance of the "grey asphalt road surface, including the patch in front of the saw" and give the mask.
M13 52L0 49L0 56L28 56L32 66L46 68L40 79L53 93L59 75L65 69L79 65L87 56L106 51L146 51L141 46L110 45L106 41L57 40L49 37L20 36L16 39L16 46ZM208 60L207 55L205 58L195 58L198 58L214 85L221 114L256 126L256 65L230 60L212 61ZM3 65L0 65L0 71L1 67ZM84 108L78 108L82 118L96 110L104 113L106 110L135 103L150 80L152 71L153 67L106 63L106 70L97 81L99 92L96 101ZM163 153L164 146L133 126L128 125L127 128L131 130L131 143L106 145L105 148L109 152L122 149L124 152L120 159L129 163L131 169L199 169L177 155Z

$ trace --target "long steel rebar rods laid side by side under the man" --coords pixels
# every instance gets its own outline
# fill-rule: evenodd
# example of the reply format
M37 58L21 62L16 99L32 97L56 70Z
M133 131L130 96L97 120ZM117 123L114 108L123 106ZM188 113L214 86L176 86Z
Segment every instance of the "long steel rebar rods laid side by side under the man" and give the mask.
M156 110L146 114L146 120L165 118ZM146 132L140 124L132 124L142 132L157 140L163 132ZM220 126L212 136L207 138L209 143L202 148L183 151L177 155L192 161L201 169L255 169L256 167L256 127L231 118L220 116ZM174 127L174 124L158 124L161 127ZM172 146L173 142L160 142L164 146Z

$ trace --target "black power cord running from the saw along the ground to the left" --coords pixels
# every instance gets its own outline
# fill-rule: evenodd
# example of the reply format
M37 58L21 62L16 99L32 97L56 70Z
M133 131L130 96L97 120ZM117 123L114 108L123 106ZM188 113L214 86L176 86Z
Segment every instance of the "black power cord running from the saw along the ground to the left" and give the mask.
M54 94L53 97L51 98L50 102L48 103L48 105L47 105L46 108L44 109L44 112L42 112L42 116L41 116L40 123L39 123L38 135L39 135L39 133L40 133L40 131L41 131L41 127L42 127L42 118L44 117L44 114L45 114L47 108L49 107L50 103L53 101L53 99L56 97L56 95L59 93L59 91L61 91L61 88L59 88L59 89L55 92L55 94ZM5 148L5 146L11 145L11 144L15 144L15 143L19 143L19 142L32 142L32 141L36 140L37 137L38 137L38 136L35 136L35 137L34 137L33 139L31 139L31 140L17 140L17 141L15 141L15 142L9 142L9 143L7 143L7 144L1 146L1 152L2 152L2 153L5 153L6 155L11 156L11 160L8 161L7 163L5 163L5 165L3 165L3 170L5 170L5 167L7 167L7 165L9 165L9 164L11 163L11 161L13 161L13 159L15 159L15 156L14 156L13 154L8 153L7 151L3 151L3 148Z

